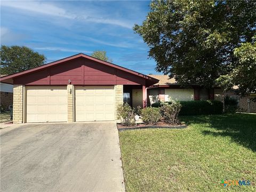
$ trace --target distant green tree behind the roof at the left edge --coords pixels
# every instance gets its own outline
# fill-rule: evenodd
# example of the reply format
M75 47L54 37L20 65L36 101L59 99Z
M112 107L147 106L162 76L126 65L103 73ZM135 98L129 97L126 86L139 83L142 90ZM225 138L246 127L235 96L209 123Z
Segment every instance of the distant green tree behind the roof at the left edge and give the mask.
M1 46L1 74L14 74L45 63L42 54L26 46Z

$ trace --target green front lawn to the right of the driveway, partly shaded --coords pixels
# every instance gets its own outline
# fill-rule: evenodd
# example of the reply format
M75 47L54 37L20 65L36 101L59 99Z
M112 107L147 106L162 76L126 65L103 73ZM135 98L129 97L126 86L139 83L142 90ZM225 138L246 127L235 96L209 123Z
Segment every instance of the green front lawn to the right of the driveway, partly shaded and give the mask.
M256 191L256 115L181 120L187 129L119 132L126 191ZM224 188L222 179L255 185Z

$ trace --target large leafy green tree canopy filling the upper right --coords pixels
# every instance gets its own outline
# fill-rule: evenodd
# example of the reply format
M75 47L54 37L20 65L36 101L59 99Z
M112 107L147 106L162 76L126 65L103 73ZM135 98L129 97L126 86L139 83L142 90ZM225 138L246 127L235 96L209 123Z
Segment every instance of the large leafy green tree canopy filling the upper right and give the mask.
M243 58L250 47L247 43L253 46L255 10L256 1L153 1L146 20L134 30L148 44L157 71L183 86L212 87L219 77L236 73L237 67L253 60ZM255 56L255 50L247 52ZM247 73L246 67L239 71ZM255 87L255 81L251 83Z

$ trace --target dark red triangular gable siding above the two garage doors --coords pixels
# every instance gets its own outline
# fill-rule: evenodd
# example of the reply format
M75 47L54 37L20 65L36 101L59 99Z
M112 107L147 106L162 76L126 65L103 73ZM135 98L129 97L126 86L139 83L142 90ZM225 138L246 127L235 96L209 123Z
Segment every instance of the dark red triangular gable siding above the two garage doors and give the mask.
M20 85L145 85L146 80L86 58L77 58L48 69L14 78Z

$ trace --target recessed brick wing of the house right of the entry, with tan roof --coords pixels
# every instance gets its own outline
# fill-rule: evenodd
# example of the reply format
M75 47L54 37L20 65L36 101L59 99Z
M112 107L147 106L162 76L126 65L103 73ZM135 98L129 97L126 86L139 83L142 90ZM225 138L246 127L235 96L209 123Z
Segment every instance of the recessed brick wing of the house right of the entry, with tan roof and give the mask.
M220 89L204 89L197 85L191 85L191 88L182 88L174 78L168 75L149 75L159 79L159 82L147 89L148 103L169 101L170 99L179 101L208 100L218 98Z

